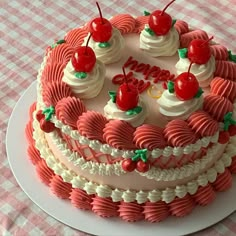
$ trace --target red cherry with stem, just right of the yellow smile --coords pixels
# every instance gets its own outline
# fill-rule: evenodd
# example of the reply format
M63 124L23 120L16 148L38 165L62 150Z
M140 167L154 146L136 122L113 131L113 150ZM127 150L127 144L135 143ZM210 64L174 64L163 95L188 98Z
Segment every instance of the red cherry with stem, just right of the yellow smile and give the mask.
M199 90L199 83L195 75L190 73L192 62L189 65L188 72L181 73L174 82L176 97L180 100L190 100L196 96Z

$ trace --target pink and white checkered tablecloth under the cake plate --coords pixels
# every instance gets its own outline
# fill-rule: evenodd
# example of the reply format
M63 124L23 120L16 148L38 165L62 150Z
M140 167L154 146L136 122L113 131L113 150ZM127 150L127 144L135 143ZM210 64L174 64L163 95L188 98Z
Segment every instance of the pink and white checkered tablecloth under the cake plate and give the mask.
M99 2L109 18L118 13L142 15L168 1ZM13 107L35 81L45 48L97 16L95 1L1 0L0 7L0 235L86 235L47 215L26 196L9 167L5 136ZM236 54L236 0L176 0L168 13L206 30ZM236 212L194 235L236 235Z

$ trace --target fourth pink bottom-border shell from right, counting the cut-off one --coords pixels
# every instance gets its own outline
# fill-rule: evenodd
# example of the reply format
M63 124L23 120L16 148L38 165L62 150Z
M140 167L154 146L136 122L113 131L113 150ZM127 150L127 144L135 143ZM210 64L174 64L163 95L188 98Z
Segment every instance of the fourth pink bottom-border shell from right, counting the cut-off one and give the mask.
M187 194L183 198L176 197L174 201L169 203L170 212L177 217L183 217L192 212L195 207L195 202L192 197Z

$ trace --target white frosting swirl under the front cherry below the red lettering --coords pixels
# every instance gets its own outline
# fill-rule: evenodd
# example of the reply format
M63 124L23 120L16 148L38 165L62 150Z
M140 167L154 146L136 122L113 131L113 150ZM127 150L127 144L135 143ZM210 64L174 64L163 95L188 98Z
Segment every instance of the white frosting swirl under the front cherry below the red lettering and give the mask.
M146 105L144 104L144 102L142 102L141 99L139 99L138 106L142 107L142 111L140 113L127 115L126 111L120 110L117 107L116 103L112 102L112 100L109 100L107 102L107 105L104 107L104 115L107 119L124 120L130 123L132 126L137 127L143 124L148 115Z

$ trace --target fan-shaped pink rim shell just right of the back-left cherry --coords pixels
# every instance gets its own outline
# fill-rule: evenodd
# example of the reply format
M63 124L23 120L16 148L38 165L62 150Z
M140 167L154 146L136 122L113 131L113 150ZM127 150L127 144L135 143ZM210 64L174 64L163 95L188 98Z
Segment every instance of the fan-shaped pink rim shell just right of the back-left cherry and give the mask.
M116 27L121 34L132 33L135 29L135 19L130 14L118 14L110 19L113 27Z

